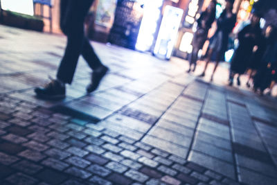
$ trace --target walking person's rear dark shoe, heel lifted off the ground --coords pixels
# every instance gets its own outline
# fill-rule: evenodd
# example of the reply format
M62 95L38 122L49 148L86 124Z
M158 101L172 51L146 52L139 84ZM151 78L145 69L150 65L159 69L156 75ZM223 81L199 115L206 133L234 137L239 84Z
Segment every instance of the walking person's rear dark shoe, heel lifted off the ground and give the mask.
M102 66L98 69L94 70L91 76L91 84L87 87L87 93L91 93L92 91L95 91L102 78L105 76L105 74L109 71L109 68Z

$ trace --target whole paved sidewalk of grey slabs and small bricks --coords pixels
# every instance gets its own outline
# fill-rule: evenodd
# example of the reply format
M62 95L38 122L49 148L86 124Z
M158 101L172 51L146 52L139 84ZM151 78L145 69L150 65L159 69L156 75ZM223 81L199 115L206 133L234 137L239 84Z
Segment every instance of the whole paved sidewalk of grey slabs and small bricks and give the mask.
M65 42L0 25L0 184L277 184L275 98L93 42L100 88L80 58L67 98L38 100Z

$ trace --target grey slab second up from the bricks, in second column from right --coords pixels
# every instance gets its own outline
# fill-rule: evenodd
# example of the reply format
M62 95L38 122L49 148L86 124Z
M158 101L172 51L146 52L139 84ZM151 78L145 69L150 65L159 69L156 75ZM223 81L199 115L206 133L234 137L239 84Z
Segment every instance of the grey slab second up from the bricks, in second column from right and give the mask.
M199 140L195 140L195 142L193 143L193 150L197 152L202 152L206 155L210 155L217 159L222 159L229 163L233 163L233 155L231 151L222 150L221 148L217 148L213 145L208 145L207 143L204 143Z

